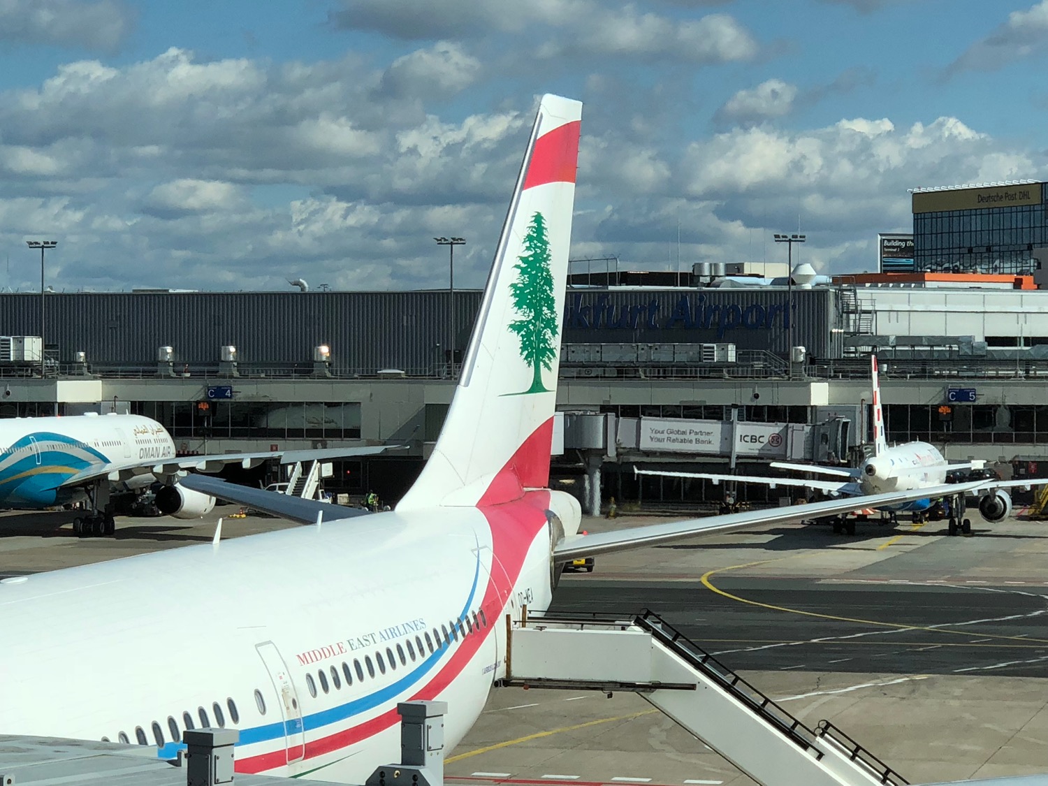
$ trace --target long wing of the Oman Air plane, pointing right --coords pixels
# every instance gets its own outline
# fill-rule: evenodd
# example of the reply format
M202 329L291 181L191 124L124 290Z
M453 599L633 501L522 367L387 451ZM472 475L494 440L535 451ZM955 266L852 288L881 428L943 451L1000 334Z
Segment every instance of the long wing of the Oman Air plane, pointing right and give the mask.
M374 445L368 447L324 447L311 451L270 451L268 453L217 453L210 456L187 456L182 458L147 460L140 463L116 463L93 465L65 478L56 488L79 486L99 478L109 477L112 482L128 480L137 475L163 477L185 472L217 473L227 464L240 464L245 470L258 466L269 459L280 459L282 464L296 461L323 461L333 458L375 456L406 445Z

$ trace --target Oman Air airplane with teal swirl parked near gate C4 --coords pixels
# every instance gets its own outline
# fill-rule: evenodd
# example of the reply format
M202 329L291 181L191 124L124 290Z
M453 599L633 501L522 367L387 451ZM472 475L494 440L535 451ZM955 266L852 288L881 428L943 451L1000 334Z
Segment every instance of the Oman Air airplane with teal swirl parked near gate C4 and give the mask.
M294 462L381 453L389 446L333 447L177 458L160 423L140 415L75 415L0 420L0 508L43 509L87 502L73 522L77 534L115 531L113 489L140 494L154 487L162 516L199 519L215 499L179 483L187 472L216 473L231 463L244 468L267 459Z

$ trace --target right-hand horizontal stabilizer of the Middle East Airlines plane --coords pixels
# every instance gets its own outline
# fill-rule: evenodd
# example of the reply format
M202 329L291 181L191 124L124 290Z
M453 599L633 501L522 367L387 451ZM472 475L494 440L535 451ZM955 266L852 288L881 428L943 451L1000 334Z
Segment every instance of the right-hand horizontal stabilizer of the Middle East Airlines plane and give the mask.
M917 488L909 492L891 492L889 494L853 497L848 500L812 502L806 505L790 505L788 507L777 507L766 510L746 510L741 514L709 516L703 519L690 519L669 524L629 527L610 532L568 536L567 538L562 538L553 548L553 560L555 562L567 562L568 560L596 556L614 551L631 551L636 548L656 546L700 534L729 532L734 529L742 529L755 524L793 524L805 519L846 514L866 507L880 507L881 505L912 502L913 500L926 499L929 497L936 498L953 494L965 494L983 487L985 483L985 481L944 483L938 486Z

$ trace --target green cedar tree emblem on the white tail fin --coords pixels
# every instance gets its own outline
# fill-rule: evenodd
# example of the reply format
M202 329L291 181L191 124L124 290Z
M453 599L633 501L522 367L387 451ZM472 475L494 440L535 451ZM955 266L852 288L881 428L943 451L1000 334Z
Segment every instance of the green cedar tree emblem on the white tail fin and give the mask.
M531 387L517 395L549 392L542 384L542 370L552 369L559 349L556 297L549 259L546 219L536 213L524 236L524 253L514 265L519 275L509 285L514 309L521 316L509 323L509 330L520 340L521 357L533 372Z

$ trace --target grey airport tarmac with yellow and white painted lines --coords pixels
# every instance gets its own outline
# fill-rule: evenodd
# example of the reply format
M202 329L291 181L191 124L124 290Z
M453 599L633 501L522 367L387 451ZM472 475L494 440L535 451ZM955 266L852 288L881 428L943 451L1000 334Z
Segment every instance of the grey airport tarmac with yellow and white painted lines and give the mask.
M0 577L208 542L204 521L0 515ZM660 519L665 521L665 519ZM593 519L590 531L650 523ZM751 527L612 554L554 610L650 608L808 725L826 718L911 783L1048 772L1048 524ZM299 526L227 518L223 538ZM759 754L759 751L755 751ZM493 691L450 783L739 786L745 776L632 694Z

